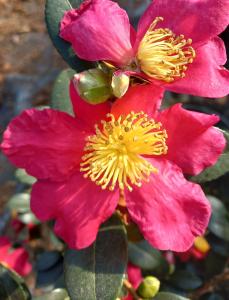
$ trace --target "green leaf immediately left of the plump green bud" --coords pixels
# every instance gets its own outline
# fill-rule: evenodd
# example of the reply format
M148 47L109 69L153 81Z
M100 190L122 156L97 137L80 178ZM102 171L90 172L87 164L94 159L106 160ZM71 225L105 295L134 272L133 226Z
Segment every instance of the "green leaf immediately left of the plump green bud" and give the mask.
M74 116L72 103L69 95L69 83L75 71L66 69L57 77L51 96L51 106L54 109L64 111Z

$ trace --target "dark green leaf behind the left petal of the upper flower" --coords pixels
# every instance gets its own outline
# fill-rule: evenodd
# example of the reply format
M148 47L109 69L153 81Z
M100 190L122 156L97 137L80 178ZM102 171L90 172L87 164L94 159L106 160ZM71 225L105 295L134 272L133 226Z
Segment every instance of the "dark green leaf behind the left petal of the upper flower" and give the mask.
M45 21L50 38L63 59L77 72L93 68L94 64L79 59L71 44L59 37L59 30L65 11L78 7L81 2L82 0L47 0L45 6Z

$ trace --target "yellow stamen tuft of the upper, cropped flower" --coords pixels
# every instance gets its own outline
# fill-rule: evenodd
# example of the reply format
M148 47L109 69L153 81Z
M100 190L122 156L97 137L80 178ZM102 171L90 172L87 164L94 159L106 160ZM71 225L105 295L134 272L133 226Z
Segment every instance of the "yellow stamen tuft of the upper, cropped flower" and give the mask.
M168 28L154 29L160 21L162 17L153 21L140 42L137 61L148 76L172 82L185 76L187 65L195 58L195 50L190 47L192 40L184 39L184 35L176 36Z

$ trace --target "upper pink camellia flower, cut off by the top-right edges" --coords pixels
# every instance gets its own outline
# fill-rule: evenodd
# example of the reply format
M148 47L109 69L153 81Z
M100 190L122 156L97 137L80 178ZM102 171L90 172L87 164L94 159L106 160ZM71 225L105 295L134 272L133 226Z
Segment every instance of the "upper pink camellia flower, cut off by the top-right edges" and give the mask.
M80 58L110 63L155 89L222 97L229 92L229 72L217 35L228 20L228 0L154 0L135 32L117 3L85 0L65 13L60 36Z

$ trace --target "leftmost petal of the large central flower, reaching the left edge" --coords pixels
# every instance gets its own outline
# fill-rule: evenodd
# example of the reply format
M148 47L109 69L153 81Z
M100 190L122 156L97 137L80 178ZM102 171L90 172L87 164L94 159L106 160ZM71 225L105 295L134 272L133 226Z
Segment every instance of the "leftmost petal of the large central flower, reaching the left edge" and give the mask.
M29 109L10 123L1 148L30 175L59 181L79 167L89 133L66 113Z

